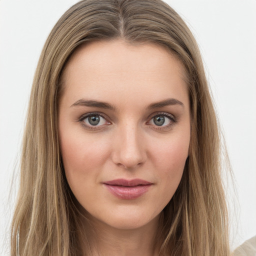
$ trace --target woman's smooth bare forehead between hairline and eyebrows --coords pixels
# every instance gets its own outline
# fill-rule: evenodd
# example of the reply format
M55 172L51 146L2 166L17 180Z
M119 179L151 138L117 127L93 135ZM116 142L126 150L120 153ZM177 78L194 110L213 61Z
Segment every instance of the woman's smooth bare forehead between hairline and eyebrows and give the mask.
M64 96L72 101L80 96L104 101L146 98L150 103L187 95L184 73L180 61L164 47L114 40L78 47L64 68L62 81Z

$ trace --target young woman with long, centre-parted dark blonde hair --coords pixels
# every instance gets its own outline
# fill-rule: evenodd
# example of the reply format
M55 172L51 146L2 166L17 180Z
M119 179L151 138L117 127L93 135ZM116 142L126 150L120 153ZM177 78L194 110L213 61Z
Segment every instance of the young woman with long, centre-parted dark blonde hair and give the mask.
M158 0L84 0L35 73L12 255L229 255L196 42Z

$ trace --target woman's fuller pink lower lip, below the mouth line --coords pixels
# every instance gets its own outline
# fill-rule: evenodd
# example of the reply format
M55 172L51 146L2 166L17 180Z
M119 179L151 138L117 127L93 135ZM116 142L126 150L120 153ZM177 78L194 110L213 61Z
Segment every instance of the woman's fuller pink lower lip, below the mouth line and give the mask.
M137 185L137 186L120 186L120 185L108 185L105 187L116 197L121 199L135 199L148 191L152 184Z

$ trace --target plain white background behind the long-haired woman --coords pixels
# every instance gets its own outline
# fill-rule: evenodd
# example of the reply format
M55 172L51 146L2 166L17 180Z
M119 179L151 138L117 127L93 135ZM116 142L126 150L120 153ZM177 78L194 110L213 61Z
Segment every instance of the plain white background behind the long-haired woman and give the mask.
M18 182L8 196L33 73L48 33L75 2L0 0L0 255L7 255ZM228 199L235 247L256 234L256 0L166 2L202 53L234 173L236 195L228 188Z

